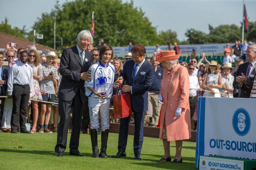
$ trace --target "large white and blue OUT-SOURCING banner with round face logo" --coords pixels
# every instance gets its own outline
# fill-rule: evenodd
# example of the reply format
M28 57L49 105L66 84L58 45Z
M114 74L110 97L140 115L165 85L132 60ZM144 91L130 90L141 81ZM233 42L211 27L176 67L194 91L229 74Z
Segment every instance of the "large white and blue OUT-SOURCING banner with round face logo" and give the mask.
M256 159L256 99L198 98L196 167L199 156Z

